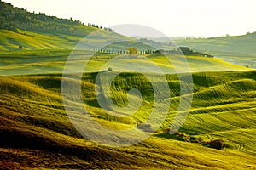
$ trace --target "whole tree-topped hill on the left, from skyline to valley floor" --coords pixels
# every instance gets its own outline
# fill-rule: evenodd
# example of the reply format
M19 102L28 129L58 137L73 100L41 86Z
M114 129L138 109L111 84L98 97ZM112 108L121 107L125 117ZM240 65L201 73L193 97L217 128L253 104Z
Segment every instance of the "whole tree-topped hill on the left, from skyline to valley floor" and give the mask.
M31 13L26 8L17 8L0 0L0 51L12 51L19 48L73 49L84 37L95 31L96 34L87 40L90 50L96 49L96 44L99 42L120 39L123 42L112 44L106 48L126 50L127 44L128 47L136 47L140 50L152 49L150 47L152 45L163 48L160 42L146 39L137 42L136 38L125 37L110 28L96 24L86 26L81 21L72 18L60 19L55 16L47 16L44 13Z

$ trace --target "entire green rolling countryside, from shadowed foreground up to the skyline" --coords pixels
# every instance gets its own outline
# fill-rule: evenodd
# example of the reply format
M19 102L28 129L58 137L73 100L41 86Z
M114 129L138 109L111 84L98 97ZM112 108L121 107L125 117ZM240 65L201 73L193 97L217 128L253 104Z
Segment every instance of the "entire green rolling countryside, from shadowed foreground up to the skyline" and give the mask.
M1 0L0 9L0 169L256 169L255 33L177 40L214 58L164 55L151 46L174 44ZM90 127L80 107L102 127L134 130L120 140ZM97 141L148 138L96 143L73 121Z

